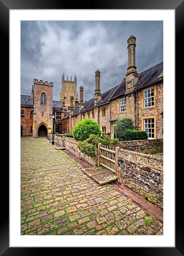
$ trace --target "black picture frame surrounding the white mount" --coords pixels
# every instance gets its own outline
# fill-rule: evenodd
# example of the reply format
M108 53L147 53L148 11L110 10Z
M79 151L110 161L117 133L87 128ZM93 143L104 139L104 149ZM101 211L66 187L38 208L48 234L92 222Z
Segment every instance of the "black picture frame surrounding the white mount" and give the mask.
M0 31L1 31L1 51L5 53L5 58L3 58L3 67L1 68L3 77L6 78L6 84L9 82L9 10L10 9L174 9L175 10L175 49L176 56L175 62L178 68L175 70L175 77L179 77L179 60L183 52L180 50L180 40L183 38L183 24L184 24L184 1L183 0L131 0L131 1L93 1L91 6L88 3L83 3L81 6L79 3L73 2L62 2L61 0L0 0ZM96 8L98 7L98 8ZM2 62L1 62L2 63ZM180 66L181 67L181 66ZM182 84L183 86L183 84ZM5 88L7 95L7 87ZM176 92L177 96L177 92ZM176 104L178 108L178 104ZM6 106L7 111L7 106ZM177 124L175 126L177 128ZM8 144L7 140L6 143ZM175 156L175 162L178 162L180 156L177 154ZM6 168L7 169L7 168ZM183 169L183 168L181 168ZM179 170L180 171L180 170ZM182 170L181 170L182 171ZM183 171L182 171L183 172ZM165 174L166 175L166 174ZM3 179L9 180L9 173L3 173ZM175 247L131 247L131 253L135 255L167 255L167 256L181 256L184 255L184 231L183 231L183 213L180 211L181 207L181 197L180 197L180 187L183 187L183 179L180 177L180 173L176 173L176 190L175 190ZM0 255L35 255L37 252L40 254L40 249L36 247L9 247L9 194L8 189L6 190L6 197L4 197L3 202L3 223L0 227ZM145 245L146 246L146 245ZM113 246L111 246L113 247ZM121 247L121 246L120 246ZM62 248L61 248L62 249ZM91 248L90 252L86 253L92 254L95 252L95 248ZM123 251L127 248L123 248ZM52 253L53 249L46 248L47 253ZM52 251L51 251L52 250Z

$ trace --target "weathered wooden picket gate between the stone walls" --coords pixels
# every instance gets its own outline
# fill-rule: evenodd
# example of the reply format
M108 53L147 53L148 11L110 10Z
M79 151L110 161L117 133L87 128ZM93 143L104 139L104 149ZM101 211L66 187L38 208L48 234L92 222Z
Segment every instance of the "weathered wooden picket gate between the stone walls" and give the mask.
M98 144L98 166L104 166L108 171L116 174L115 149Z

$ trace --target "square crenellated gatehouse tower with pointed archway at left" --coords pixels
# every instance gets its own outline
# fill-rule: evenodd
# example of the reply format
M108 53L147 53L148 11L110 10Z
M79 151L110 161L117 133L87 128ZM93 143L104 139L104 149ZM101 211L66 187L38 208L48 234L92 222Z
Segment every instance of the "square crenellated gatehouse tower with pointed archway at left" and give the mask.
M34 79L33 138L47 137L52 131L53 83Z

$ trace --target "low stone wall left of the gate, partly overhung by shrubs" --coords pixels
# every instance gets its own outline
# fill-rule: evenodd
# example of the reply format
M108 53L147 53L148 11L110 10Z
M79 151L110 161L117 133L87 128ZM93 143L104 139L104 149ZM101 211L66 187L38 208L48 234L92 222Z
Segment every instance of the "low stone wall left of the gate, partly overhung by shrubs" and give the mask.
M79 141L76 141L76 139L65 137L65 148L66 148L66 150L75 154L76 157L84 160L86 163L91 164L93 166L96 166L97 165L97 157L92 158L92 157L88 157L85 154L81 153L80 150L77 147L78 144L79 144Z

